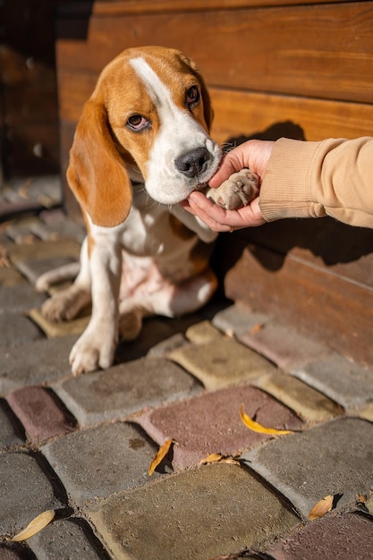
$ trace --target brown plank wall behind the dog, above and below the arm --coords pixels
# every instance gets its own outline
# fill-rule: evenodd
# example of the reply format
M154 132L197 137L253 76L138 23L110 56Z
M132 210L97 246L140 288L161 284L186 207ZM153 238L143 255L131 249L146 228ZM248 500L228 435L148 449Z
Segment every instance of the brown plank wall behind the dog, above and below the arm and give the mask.
M64 168L98 73L124 48L149 44L180 48L199 64L222 143L372 134L373 2L119 0L87 8L65 6L58 19ZM66 205L77 216L68 191ZM233 300L372 365L372 251L370 230L286 220L220 236L215 265Z

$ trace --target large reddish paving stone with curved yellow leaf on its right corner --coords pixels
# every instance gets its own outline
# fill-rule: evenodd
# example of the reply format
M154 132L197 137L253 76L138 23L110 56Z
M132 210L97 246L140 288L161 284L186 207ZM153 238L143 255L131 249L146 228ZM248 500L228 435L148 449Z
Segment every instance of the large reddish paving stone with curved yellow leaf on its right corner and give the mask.
M240 405L250 417L270 428L300 429L302 421L270 395L251 386L235 386L203 393L182 403L145 412L134 421L157 444L173 438L174 465L198 465L208 454L236 454L259 445L270 436L251 431L242 423Z

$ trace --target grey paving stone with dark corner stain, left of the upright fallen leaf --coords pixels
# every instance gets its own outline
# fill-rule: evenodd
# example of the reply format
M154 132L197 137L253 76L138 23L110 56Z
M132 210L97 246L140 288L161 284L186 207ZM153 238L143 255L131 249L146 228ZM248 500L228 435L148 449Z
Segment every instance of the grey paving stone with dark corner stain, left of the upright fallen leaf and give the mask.
M84 505L148 482L157 448L123 422L73 432L41 447L72 501ZM159 475L155 472L152 479Z

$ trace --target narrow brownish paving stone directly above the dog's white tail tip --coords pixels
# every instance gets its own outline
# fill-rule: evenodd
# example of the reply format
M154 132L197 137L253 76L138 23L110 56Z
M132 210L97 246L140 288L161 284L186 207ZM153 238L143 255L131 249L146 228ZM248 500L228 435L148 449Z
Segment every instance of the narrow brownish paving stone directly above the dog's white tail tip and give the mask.
M71 257L79 259L81 246L72 240L58 242L35 242L32 245L13 245L8 249L8 256L14 265L22 260Z

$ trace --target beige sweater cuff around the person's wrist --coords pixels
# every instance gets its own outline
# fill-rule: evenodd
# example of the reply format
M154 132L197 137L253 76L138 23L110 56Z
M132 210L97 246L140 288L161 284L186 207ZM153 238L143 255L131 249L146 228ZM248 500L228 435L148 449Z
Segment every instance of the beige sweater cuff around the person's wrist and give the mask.
M309 168L321 142L282 138L272 150L260 187L259 207L267 222L286 217L316 217L309 193ZM315 210L315 208L314 208Z

